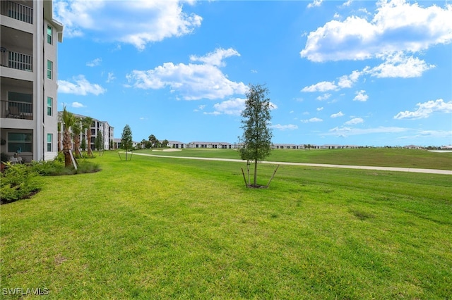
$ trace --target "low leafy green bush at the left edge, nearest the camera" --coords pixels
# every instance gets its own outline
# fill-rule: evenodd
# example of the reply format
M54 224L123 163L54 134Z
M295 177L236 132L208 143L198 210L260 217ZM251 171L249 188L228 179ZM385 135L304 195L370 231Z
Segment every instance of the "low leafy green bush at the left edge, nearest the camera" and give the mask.
M4 173L0 173L1 202L25 199L40 190L39 175L28 165L6 163Z

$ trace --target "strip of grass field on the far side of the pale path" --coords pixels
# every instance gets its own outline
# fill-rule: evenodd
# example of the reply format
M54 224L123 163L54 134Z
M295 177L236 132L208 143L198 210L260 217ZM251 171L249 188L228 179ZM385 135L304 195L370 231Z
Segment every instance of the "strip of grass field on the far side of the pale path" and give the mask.
M239 159L235 149L182 149L182 151L140 150L138 153L165 156L194 156ZM380 167L452 170L452 152L418 149L274 149L267 161L326 163L337 165L371 165Z

